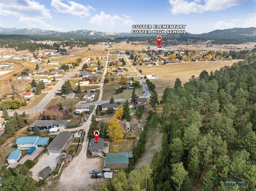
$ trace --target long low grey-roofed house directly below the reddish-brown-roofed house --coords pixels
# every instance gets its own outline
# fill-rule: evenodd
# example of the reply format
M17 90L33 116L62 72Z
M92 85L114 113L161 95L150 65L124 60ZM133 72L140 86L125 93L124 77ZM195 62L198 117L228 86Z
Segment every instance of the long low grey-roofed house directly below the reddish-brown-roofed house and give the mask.
M32 124L30 124L29 129L31 132L34 132L35 126L37 126L40 130L46 130L52 127L65 128L67 123L68 120L35 120Z

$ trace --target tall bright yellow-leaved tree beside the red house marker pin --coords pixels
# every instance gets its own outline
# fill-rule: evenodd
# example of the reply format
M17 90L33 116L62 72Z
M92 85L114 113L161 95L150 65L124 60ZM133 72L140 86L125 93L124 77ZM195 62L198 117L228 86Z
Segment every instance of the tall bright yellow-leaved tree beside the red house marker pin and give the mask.
M108 136L114 142L118 142L122 140L123 134L120 130L120 124L118 123L117 118L112 118L108 120Z

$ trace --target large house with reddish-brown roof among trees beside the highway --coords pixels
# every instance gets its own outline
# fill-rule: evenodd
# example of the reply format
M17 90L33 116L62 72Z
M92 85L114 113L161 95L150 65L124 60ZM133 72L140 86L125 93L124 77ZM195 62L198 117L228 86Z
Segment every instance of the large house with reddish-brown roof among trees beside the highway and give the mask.
M60 119L66 116L66 110L60 109L59 106L52 105L48 107L45 111L41 114L41 120L50 120L52 118Z

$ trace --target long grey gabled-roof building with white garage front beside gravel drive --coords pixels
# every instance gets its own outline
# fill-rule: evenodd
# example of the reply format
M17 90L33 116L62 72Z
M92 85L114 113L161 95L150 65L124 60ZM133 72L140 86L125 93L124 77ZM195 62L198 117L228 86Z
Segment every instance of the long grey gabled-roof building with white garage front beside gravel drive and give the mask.
M60 132L46 147L48 154L52 156L60 156L63 150L68 147L68 144L72 141L73 137L74 135L72 132Z

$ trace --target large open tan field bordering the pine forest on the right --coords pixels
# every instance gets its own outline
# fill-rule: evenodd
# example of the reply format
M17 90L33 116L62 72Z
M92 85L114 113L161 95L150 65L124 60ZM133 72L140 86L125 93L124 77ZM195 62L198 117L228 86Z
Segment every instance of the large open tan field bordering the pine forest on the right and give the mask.
M158 79L152 79L156 85L156 91L162 93L166 87L173 87L176 78L182 81L182 84L188 82L192 75L198 77L199 74L206 70L215 71L224 67L225 65L232 65L236 61L204 61L204 62L188 62L177 63L160 66L140 66L136 67L137 70L142 70L142 75L156 75Z

